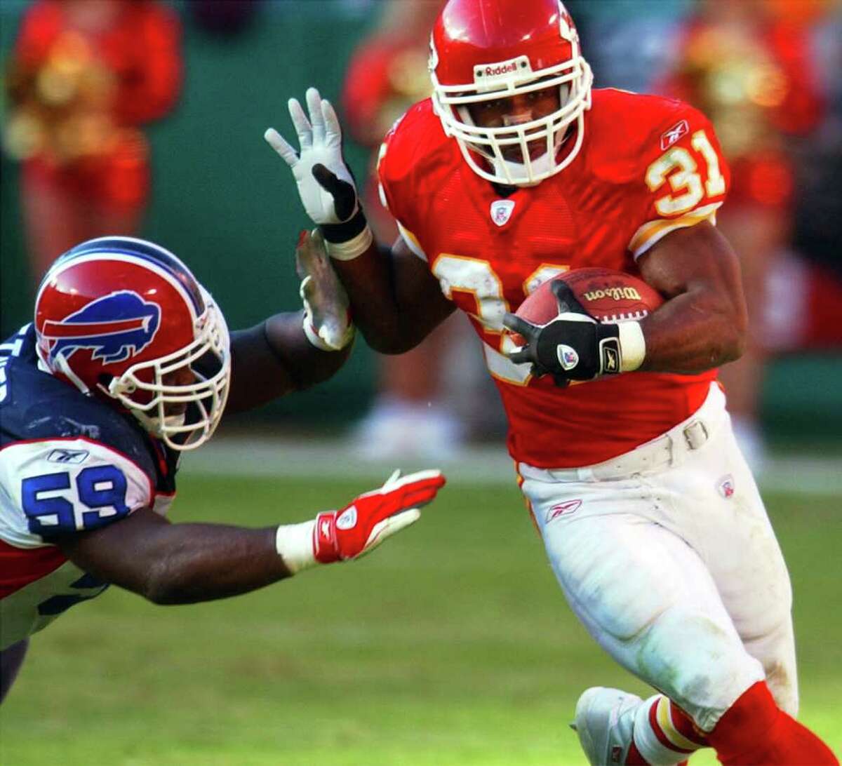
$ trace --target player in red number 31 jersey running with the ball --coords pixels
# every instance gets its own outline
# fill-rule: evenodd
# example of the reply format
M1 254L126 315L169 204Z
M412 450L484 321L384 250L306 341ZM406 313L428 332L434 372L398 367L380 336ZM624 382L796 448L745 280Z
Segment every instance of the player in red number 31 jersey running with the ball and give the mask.
M373 348L412 348L457 308L481 338L568 603L659 691L584 692L575 727L590 763L679 763L699 747L727 764L837 763L792 717L790 582L716 383L746 312L715 226L728 171L710 122L678 101L592 90L559 0L450 0L430 72L432 98L381 149L401 231L389 258L314 88L309 117L290 99L300 151L266 139ZM572 301L542 327L511 317L536 285L586 266L639 275L666 300L639 322L597 325Z

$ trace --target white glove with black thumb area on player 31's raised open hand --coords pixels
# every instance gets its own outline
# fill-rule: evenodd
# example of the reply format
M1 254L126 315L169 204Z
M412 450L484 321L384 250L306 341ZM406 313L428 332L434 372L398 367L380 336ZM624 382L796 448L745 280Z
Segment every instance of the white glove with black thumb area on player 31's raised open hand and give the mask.
M304 210L313 223L319 226L344 223L353 217L360 205L354 178L351 177L342 157L342 129L339 127L339 119L331 103L327 98L322 98L316 88L307 88L306 103L310 112L309 120L297 98L290 98L288 103L292 125L296 129L301 146L300 152L296 152L274 128L269 128L264 133L264 138L290 166L298 184L298 194L301 196ZM349 184L351 189L342 195L342 199L336 199L334 194L319 184L313 176L314 165L328 168L339 181ZM350 194L351 191L353 195Z

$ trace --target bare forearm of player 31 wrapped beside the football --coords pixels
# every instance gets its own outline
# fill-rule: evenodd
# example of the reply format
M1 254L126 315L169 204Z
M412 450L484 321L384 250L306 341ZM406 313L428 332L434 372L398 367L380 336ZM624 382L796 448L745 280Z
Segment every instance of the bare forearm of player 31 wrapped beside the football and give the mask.
M744 311L704 291L677 295L641 322L646 356L640 370L692 375L739 359Z

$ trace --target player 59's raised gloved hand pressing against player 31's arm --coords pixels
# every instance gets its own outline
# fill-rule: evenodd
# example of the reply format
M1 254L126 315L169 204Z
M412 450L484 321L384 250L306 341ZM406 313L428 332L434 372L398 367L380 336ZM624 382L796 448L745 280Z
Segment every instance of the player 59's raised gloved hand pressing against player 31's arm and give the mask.
M299 294L304 302L304 332L316 348L338 351L354 339L348 294L325 251L318 229L301 231L296 247Z

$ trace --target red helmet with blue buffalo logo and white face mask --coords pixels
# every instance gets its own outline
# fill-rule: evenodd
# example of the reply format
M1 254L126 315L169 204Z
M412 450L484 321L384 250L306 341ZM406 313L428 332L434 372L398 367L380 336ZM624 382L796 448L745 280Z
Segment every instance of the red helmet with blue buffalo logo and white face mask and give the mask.
M73 247L35 298L42 364L88 395L119 402L173 449L210 439L231 378L228 328L173 253L131 237Z

